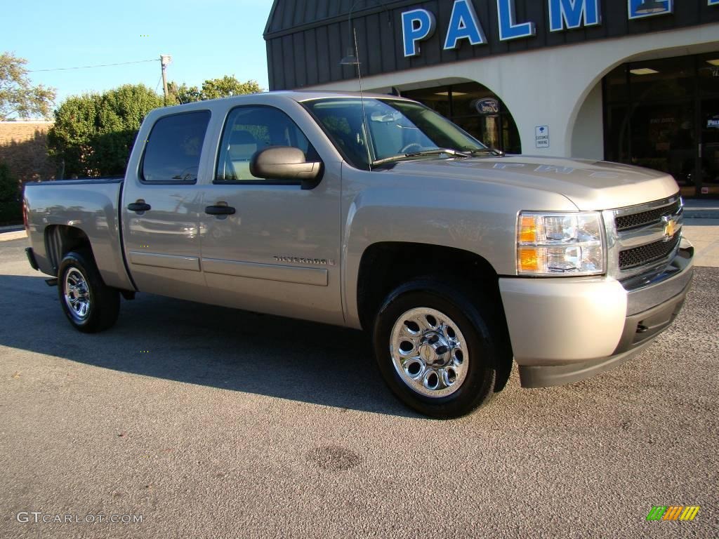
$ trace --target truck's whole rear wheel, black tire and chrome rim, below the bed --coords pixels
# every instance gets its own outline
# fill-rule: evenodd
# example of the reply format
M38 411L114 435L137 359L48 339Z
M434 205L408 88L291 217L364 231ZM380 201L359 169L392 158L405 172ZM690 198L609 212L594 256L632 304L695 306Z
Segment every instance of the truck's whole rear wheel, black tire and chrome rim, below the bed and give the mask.
M114 325L120 295L107 286L87 251L69 252L58 270L58 296L63 313L83 333L97 333Z

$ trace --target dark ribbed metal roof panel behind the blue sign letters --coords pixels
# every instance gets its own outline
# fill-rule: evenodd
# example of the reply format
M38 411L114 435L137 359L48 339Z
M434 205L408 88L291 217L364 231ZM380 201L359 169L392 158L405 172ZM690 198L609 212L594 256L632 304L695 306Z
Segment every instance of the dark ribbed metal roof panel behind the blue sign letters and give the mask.
M443 40L453 4L454 0L275 0L265 28L270 90L356 78L356 67L339 63L352 45L352 29L357 32L357 52L366 76L719 22L719 6L708 5L707 0L677 0L674 14L637 20L628 19L627 0L603 0L602 24L551 32L547 0L514 0L517 21L534 22L536 35L503 41L498 35L496 1L472 0L487 45L472 46L462 40L456 50L446 50ZM434 13L436 32L421 43L421 55L405 57L402 12L414 8ZM659 34L656 47L662 47Z

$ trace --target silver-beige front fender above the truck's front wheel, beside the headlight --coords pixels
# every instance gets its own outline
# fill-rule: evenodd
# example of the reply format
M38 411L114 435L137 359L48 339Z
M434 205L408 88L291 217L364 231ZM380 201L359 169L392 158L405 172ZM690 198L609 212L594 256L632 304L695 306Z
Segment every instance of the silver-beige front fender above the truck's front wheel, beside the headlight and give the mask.
M344 181L345 319L359 327L357 285L362 255L378 242L439 245L477 254L498 275L516 275L518 212L551 208L575 211L562 195L462 180L395 178L381 171L351 171ZM344 177L343 177L344 180ZM385 182L385 180L388 180ZM377 185L383 182L390 185ZM452 260L418 260L427 272Z

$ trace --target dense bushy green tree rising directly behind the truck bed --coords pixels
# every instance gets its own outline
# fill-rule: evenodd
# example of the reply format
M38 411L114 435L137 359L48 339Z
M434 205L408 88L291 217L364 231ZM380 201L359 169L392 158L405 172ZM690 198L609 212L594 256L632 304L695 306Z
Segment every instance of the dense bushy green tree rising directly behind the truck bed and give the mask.
M65 178L122 175L142 120L160 106L162 98L142 84L70 97L47 133L50 155L65 163Z

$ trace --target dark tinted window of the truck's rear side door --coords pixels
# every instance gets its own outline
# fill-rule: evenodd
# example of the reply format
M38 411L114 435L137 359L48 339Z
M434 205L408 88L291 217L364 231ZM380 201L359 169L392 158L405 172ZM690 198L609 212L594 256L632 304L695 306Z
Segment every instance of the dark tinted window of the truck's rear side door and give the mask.
M146 183L196 183L209 111L164 116L145 143L140 180Z

